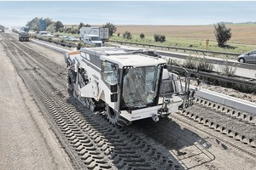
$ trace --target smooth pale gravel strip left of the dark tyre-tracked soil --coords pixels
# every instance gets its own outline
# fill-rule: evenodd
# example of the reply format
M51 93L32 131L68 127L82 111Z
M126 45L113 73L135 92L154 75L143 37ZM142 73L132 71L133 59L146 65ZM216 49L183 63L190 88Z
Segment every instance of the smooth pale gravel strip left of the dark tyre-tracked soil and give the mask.
M3 45L0 43L0 169L73 169Z

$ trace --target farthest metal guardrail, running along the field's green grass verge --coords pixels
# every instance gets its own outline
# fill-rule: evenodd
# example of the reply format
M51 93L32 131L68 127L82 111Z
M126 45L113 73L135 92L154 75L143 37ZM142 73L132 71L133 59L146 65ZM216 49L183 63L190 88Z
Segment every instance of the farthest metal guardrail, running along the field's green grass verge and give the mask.
M221 54L221 55L225 55L226 57L228 56L238 56L240 54L235 54L235 53L223 53L223 52L218 52L218 51L207 51L207 50L201 50L201 49L193 49L193 48L177 48L177 47L171 47L171 46L160 46L160 45L151 45L151 44L145 44L145 43L137 43L137 42L120 42L120 41L108 41L108 42L116 42L116 43L120 43L120 44L128 44L128 45L136 45L136 46L143 46L143 48L160 48L160 49L175 49L177 50L182 50L184 51L184 53L186 53L187 51L190 52L195 52L195 53L202 53L202 54Z

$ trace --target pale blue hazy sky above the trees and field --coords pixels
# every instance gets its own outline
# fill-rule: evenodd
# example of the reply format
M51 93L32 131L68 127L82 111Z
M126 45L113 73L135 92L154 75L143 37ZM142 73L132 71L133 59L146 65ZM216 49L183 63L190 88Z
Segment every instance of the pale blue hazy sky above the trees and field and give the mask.
M256 1L1 1L0 25L26 26L35 17L64 25L212 25L256 22Z

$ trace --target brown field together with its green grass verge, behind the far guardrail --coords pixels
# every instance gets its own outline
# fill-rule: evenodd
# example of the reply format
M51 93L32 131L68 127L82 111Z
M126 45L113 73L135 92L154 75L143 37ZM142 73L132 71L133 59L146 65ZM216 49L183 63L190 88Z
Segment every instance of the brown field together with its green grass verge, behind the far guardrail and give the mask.
M165 35L166 42L158 45L175 46L182 48L206 49L206 40L209 39L208 50L244 53L256 48L256 24L231 24L226 25L231 28L232 37L227 42L226 48L218 48L214 26L116 26L117 31L110 38L116 41L131 41L141 43L155 43L154 34ZM130 31L131 40L123 38L123 33ZM119 37L117 36L119 33ZM143 33L144 39L139 35Z

